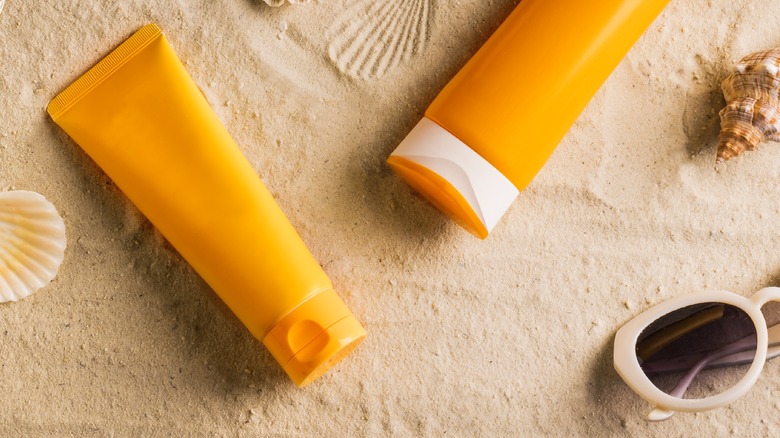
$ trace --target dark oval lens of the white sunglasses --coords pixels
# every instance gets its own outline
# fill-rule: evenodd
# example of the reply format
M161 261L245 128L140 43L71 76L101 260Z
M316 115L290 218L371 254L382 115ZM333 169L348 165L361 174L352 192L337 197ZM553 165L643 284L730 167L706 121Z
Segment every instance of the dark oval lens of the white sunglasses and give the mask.
M778 314L780 316L780 313ZM701 303L647 326L636 355L651 382L673 397L697 399L739 382L756 354L756 328L742 309Z

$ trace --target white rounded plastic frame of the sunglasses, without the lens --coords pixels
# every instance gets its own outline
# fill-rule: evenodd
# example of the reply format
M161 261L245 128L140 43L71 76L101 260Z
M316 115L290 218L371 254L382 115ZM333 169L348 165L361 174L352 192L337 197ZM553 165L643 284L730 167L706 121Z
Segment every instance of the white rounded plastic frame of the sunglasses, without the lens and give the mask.
M733 402L745 395L756 383L764 368L768 349L768 333L761 307L770 301L780 301L780 288L768 287L746 298L729 291L696 292L664 301L642 312L626 323L615 335L613 353L615 371L623 381L640 397L654 405L651 420L663 420L674 412L700 412L715 409ZM636 344L639 335L654 321L675 310L701 303L723 303L738 307L753 321L756 329L756 355L747 374L730 389L709 397L700 399L684 399L673 397L658 389L642 371L636 355Z

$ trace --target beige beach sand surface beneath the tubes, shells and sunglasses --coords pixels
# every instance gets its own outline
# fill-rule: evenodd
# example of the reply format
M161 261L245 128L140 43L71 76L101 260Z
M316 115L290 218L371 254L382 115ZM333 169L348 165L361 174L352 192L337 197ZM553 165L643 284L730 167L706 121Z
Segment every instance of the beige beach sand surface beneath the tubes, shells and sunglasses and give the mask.
M780 285L780 147L714 167L718 84L780 46L780 3L672 0L486 241L384 160L516 1L431 0L425 50L367 79L328 55L357 3L6 2L0 189L43 193L69 246L0 305L0 435L776 433L780 364L727 408L649 424L611 356L653 303ZM304 390L45 114L151 21L369 332Z

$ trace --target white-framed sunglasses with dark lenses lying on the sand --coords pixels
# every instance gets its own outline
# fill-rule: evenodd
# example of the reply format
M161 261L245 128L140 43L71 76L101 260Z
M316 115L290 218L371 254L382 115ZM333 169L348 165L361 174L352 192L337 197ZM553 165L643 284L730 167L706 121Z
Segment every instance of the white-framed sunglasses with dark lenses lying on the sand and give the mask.
M654 406L650 421L731 403L753 386L766 360L778 355L776 287L749 299L727 291L673 298L615 335L615 370Z

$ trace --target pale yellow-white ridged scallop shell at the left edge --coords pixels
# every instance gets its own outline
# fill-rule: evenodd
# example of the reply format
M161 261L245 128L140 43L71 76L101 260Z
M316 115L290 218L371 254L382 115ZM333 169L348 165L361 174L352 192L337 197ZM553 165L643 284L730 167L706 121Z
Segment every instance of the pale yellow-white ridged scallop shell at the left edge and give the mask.
M0 302L46 286L65 257L65 224L42 195L0 193Z

